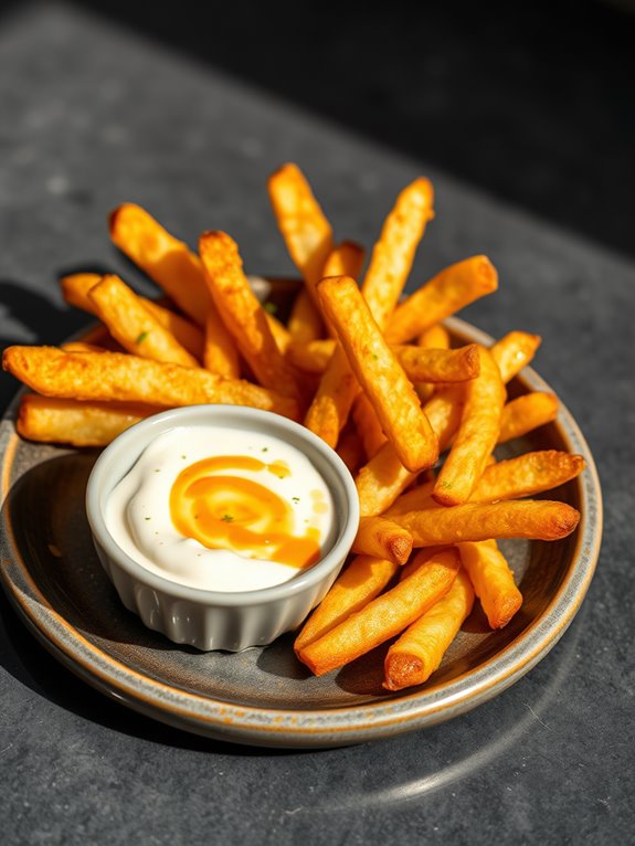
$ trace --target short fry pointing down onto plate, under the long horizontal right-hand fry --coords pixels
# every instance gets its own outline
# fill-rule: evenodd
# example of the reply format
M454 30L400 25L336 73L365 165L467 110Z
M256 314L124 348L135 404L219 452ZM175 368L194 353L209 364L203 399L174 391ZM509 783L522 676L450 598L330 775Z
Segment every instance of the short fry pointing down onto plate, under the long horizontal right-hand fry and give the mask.
M502 628L522 605L514 573L495 540L459 543L461 560L493 628Z

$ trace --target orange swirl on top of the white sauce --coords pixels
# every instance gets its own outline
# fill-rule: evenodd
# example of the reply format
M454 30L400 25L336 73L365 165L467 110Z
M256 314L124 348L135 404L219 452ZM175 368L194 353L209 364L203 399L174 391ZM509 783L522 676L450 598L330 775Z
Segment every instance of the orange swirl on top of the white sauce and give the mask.
M229 549L246 558L290 567L314 564L320 557L319 530L294 535L294 512L276 493L224 470L290 474L284 462L265 464L246 455L203 458L182 470L170 491L177 529L208 549Z

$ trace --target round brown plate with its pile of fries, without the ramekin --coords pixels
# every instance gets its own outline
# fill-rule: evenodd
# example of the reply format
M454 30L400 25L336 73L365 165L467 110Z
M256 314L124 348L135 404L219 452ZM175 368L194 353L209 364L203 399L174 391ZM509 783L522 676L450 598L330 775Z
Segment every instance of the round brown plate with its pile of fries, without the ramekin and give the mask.
M2 421L2 581L56 657L154 718L260 745L374 740L486 701L557 643L593 575L600 487L528 367L540 338L494 340L454 317L496 290L486 256L403 297L434 216L427 180L400 193L363 273L297 167L268 189L301 282L248 278L227 234L203 233L194 253L125 204L110 236L167 300L75 274L64 297L99 324L62 348L4 350L31 392ZM84 509L96 450L201 403L303 422L349 467L362 515L300 630L235 654L173 644L126 611Z

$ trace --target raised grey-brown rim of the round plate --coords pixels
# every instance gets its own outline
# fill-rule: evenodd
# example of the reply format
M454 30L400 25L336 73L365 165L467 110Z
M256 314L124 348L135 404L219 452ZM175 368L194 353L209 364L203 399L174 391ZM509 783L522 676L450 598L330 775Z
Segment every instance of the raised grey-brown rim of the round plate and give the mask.
M454 336L467 342L486 346L494 342L489 335L462 318L451 317L444 324ZM517 379L528 390L552 391L530 367L523 368ZM419 688L401 691L385 700L337 708L294 710L242 706L182 690L138 673L91 643L51 606L31 579L29 564L14 543L7 507L11 466L20 443L14 416L24 392L25 389L18 391L6 410L2 417L4 432L0 435L3 526L0 581L4 591L38 641L75 675L127 707L189 732L230 742L297 749L379 740L457 717L502 692L555 646L578 613L595 571L603 522L600 479L578 423L560 403L558 419L551 425L560 430L562 440L582 454L586 463L584 474L575 479L581 504L575 547L568 573L549 604L501 652L476 670L467 670L434 691ZM13 565L21 568L20 574L31 595L21 591L10 578ZM38 604L42 613L38 614L33 604Z

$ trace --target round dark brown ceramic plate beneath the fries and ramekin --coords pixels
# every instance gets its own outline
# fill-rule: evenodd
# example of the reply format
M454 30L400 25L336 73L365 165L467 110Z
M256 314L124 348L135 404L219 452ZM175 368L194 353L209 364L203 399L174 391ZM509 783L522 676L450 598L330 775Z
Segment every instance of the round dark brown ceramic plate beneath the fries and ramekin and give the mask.
M491 338L463 320L446 321L457 342ZM529 368L511 396L549 390ZM293 636L239 654L200 653L147 630L119 603L93 549L84 494L96 451L22 441L18 400L0 424L2 582L31 631L63 664L130 708L188 731L269 747L332 747L377 740L456 717L514 684L564 633L593 575L602 532L597 474L569 412L500 450L579 453L585 472L558 490L582 519L569 538L501 543L523 604L491 632L480 607L465 622L440 669L421 687L382 689L380 647L340 670L310 676Z

